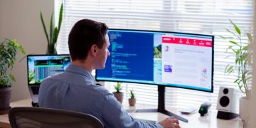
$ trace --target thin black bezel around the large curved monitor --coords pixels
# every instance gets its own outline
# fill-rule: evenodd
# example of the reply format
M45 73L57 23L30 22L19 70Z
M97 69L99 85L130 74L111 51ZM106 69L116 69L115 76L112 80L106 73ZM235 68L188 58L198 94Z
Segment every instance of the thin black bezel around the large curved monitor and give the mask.
M138 31L138 32L155 32L155 33L176 33L176 34L189 34L189 35L195 35L195 36L209 36L212 38L212 78L211 78L211 89L210 90L199 90L196 88L189 88L189 87L178 87L174 84L172 85L161 85L156 83L145 83L145 82L127 82L122 80L98 80L97 79L97 70L95 70L95 80L96 81L106 81L106 82L127 82L127 83L137 83L137 84L143 84L143 85L157 85L157 86L163 86L163 87L176 87L176 88L183 88L188 90L198 90L202 92L213 92L213 67L214 67L214 36L213 35L206 35L206 34L198 34L198 33L183 33L183 32L173 32L173 31L151 31L151 30L137 30L137 29L119 29L119 28L110 28L109 31Z

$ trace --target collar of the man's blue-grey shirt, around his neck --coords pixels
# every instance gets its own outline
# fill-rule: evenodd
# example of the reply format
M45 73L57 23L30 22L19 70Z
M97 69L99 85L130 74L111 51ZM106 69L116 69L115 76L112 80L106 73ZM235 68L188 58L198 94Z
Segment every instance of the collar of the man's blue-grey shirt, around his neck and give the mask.
M68 68L66 69L66 71L72 72L72 73L78 73L80 75L85 75L87 78L95 82L94 78L92 77L92 74L85 68L80 68L76 65L68 65Z

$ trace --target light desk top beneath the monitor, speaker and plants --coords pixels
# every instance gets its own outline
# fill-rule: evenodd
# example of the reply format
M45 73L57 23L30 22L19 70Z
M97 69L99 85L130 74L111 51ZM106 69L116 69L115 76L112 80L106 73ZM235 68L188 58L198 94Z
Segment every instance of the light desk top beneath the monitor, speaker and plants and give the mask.
M11 102L11 107L31 107L31 99L26 100L19 100L16 102ZM124 105L126 107L126 105ZM141 107L141 106L140 106ZM144 108L142 105L141 108ZM130 107L129 109L134 109L134 107ZM227 127L233 127L233 128L242 128L242 121L237 117L235 119L230 120L223 120L223 119L217 119L217 112L210 112L210 114L206 115L205 117L201 117L198 112L195 112L193 114L181 114L177 110L169 110L170 112L174 112L175 114L178 114L186 119L188 119L188 123L181 122L180 125L183 128L186 127L202 127L202 128L227 128ZM165 114L156 113L156 112L131 112L129 113L132 117L139 118L139 119L150 119L150 120L156 120L157 122L165 119ZM1 114L0 115L0 127L11 127L9 124L9 117L8 114Z

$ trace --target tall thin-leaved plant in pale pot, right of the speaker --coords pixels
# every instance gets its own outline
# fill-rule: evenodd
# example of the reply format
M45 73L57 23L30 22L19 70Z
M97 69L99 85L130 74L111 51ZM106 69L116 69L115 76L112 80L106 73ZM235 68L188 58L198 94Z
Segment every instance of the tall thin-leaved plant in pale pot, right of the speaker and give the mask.
M230 37L223 37L228 39L230 46L228 46L227 50L233 51L230 56L235 56L235 62L233 64L229 64L225 68L225 73L230 74L233 71L237 70L236 79L234 83L236 83L241 92L245 93L245 97L240 97L240 109L239 109L239 117L247 121L249 119L249 100L250 100L250 87L249 83L252 80L252 50L250 46L252 45L252 36L250 33L246 33L247 44L242 43L242 38L245 36L241 33L240 28L230 20L230 23L233 24L233 28L235 31L230 31L226 29L228 33L231 33Z

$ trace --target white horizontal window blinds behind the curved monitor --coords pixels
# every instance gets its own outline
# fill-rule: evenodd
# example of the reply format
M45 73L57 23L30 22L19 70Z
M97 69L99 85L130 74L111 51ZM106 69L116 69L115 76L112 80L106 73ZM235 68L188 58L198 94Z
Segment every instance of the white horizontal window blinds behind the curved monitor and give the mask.
M55 14L60 3L55 1ZM220 86L233 87L235 95L243 94L233 83L236 73L225 75L225 66L235 58L226 58L228 41L220 36L228 36L225 28L233 29L230 18L243 33L252 33L253 0L64 0L63 23L58 36L57 52L68 52L68 34L76 21L90 18L104 22L110 28L142 29L155 31L176 31L201 33L215 36L213 93L166 87L166 107L195 107L203 102L211 102L211 110L216 110ZM58 15L56 15L58 16ZM56 18L58 19L58 18ZM242 38L242 43L247 43ZM105 87L114 92L114 82L105 82ZM123 83L124 101L129 90L134 90L137 102L157 105L157 86ZM238 112L238 99L236 110Z

